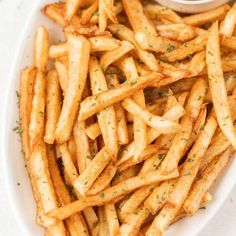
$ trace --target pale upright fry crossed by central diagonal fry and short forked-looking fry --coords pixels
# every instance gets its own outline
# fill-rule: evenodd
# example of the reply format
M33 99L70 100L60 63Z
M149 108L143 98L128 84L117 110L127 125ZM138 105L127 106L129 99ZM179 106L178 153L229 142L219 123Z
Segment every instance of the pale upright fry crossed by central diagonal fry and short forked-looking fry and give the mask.
M129 83L136 81L138 78L138 72L136 70L134 60L132 57L126 58L122 62L122 69L125 73L126 79ZM145 108L145 97L142 90L136 92L133 95L134 101L142 108ZM122 104L122 103L121 103ZM140 154L146 148L146 124L137 116L133 119L134 129L134 159L139 159Z

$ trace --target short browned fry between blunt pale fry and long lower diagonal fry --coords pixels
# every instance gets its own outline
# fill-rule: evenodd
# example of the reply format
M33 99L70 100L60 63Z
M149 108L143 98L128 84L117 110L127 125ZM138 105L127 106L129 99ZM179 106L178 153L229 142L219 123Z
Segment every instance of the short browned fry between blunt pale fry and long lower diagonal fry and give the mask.
M95 195L109 186L116 174L117 167L110 162L88 190L87 195Z

